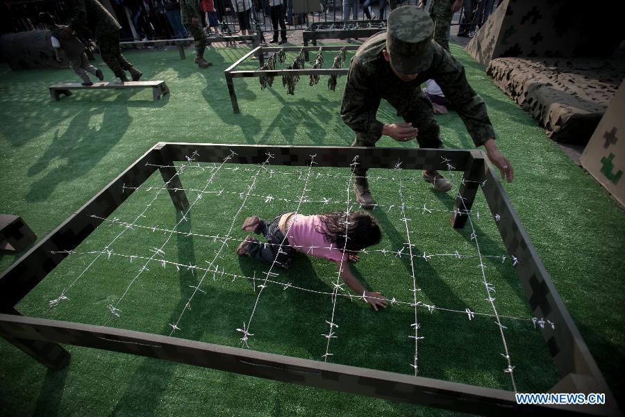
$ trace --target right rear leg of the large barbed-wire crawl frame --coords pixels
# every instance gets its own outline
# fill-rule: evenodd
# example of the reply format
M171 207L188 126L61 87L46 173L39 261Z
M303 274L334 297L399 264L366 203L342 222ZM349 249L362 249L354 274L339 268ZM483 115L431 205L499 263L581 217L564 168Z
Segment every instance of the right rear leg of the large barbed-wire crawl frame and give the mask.
M453 229L462 229L469 218L471 207L475 199L475 195L483 181L483 172L485 164L484 154L480 151L471 151L465 175L462 177L462 183L458 187L458 195L456 195L456 204L453 205L451 213L451 227Z

